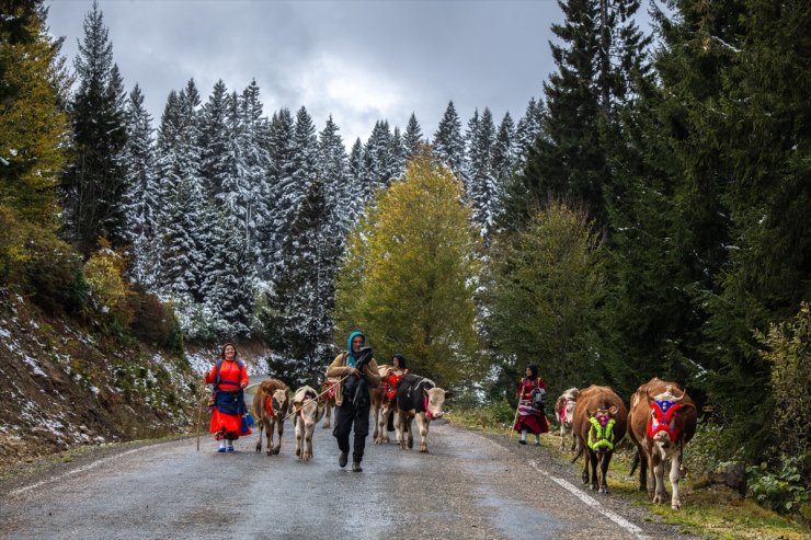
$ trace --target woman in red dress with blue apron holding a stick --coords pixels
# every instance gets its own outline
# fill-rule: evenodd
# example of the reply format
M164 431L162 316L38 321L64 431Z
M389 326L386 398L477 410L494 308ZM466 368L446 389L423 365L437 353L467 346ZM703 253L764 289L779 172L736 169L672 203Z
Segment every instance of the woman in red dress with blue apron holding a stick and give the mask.
M242 424L245 412L244 388L248 386L248 370L237 358L237 348L226 343L221 358L206 375L206 384L214 384L214 405L212 410L212 433L219 440L218 452L232 452L233 441L241 435L250 435L251 428Z

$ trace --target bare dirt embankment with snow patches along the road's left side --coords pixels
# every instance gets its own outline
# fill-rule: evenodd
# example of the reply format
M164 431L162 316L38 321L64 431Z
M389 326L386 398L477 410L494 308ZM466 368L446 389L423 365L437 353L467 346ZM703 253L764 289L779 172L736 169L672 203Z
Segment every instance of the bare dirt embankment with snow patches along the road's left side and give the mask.
M78 445L191 430L199 370L218 351L190 348L185 356L157 351L92 321L48 317L0 289L0 467ZM258 372L261 344L240 351Z

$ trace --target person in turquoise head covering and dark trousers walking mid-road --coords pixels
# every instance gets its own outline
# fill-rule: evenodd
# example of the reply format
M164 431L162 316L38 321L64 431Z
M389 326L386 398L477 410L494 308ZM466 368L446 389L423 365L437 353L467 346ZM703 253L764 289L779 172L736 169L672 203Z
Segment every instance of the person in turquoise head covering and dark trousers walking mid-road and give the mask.
M353 332L346 341L346 353L341 353L327 368L327 377L344 378L335 391L335 428L332 435L338 439L340 467L346 467L350 455L350 432L353 424L355 438L352 450L352 470L361 472L361 461L369 433L369 391L380 384L380 376L372 348L364 347L366 336Z

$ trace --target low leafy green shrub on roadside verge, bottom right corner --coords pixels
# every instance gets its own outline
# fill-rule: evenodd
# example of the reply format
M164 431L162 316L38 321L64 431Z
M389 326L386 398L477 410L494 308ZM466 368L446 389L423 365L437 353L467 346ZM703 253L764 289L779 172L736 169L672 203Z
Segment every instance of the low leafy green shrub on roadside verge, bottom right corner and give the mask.
M808 486L800 471L808 468L810 458L810 455L781 455L774 469L766 463L747 468L749 485L755 501L781 514L799 513L809 502Z

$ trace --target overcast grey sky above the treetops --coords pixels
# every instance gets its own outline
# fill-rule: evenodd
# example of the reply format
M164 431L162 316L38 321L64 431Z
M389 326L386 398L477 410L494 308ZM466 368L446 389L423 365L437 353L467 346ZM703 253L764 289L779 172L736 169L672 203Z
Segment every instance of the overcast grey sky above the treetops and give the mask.
M203 102L218 79L256 79L271 116L301 106L320 131L332 114L350 147L378 119L432 137L448 101L462 127L486 106L515 122L555 69L553 0L100 0L127 92L137 82L157 128L171 90L190 78ZM92 0L48 2L52 34L72 67Z

